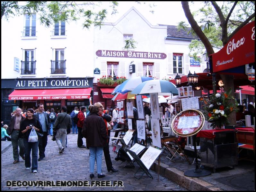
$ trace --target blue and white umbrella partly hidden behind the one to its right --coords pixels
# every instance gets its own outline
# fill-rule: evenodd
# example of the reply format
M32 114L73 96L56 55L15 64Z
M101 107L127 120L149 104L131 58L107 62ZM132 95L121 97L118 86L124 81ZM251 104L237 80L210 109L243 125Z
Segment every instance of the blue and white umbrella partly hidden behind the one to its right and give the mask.
M118 88L116 87L116 89L112 92L112 95L117 93L117 92L125 94L129 91L134 90L134 88L137 87L142 82L149 81L149 80L152 80L152 79L154 79L154 78L152 78L152 77L142 77L142 76L137 76L137 77L127 79L125 82L120 84L120 86Z

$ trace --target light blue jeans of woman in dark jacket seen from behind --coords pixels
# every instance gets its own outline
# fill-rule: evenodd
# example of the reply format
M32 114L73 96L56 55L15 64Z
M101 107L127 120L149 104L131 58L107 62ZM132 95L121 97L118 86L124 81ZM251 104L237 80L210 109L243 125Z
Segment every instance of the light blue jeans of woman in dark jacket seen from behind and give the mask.
M94 173L95 158L97 160L97 172L102 173L102 152L103 147L90 147L90 174Z

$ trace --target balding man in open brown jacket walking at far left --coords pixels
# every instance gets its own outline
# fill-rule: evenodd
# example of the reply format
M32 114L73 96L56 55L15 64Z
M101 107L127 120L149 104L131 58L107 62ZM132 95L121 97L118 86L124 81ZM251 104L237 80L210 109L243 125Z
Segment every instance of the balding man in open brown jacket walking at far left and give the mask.
M20 156L23 160L25 160L25 148L23 143L23 138L19 138L19 132L20 132L20 124L25 119L21 115L21 108L16 108L16 115L12 116L10 125L7 129L8 135L11 135L11 141L13 145L13 163L19 163L20 162ZM19 148L20 147L20 153Z

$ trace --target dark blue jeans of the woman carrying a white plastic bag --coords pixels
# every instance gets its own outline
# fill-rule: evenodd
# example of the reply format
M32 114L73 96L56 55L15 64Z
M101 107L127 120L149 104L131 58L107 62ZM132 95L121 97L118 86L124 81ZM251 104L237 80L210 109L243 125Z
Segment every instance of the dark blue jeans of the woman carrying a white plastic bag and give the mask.
M31 159L30 159L30 153L32 149L32 168L31 170L37 170L37 152L38 152L38 144L39 141L37 142L28 142L28 138L23 139L23 143L25 146L25 167L30 167L31 166Z

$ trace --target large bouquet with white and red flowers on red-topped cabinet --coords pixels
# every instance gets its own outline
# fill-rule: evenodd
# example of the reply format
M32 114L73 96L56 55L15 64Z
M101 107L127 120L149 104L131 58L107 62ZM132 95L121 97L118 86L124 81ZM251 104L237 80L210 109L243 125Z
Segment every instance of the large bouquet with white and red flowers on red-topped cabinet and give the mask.
M202 99L204 102L204 116L206 120L212 123L210 126L216 129L220 129L224 124L230 124L228 121L228 116L237 111L238 108L231 102L234 99L230 96L231 88L224 92L224 88L220 88L221 92L212 94L210 99Z

